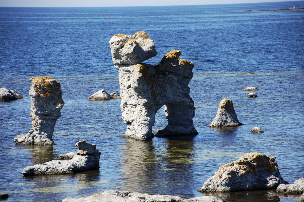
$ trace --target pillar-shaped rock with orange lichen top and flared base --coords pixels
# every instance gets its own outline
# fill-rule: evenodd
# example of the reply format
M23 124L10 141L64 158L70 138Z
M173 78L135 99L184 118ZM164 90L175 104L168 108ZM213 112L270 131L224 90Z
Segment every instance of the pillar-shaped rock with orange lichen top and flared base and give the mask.
M14 140L19 145L54 145L54 128L64 105L60 83L50 77L34 77L30 81L32 129Z

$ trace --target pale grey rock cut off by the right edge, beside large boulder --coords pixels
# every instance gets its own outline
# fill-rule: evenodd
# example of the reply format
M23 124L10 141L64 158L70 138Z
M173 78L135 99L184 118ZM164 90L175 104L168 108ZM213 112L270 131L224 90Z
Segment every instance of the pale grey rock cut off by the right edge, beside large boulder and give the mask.
M291 195L301 195L304 193L304 178L295 180L293 184L280 184L277 188L277 192Z

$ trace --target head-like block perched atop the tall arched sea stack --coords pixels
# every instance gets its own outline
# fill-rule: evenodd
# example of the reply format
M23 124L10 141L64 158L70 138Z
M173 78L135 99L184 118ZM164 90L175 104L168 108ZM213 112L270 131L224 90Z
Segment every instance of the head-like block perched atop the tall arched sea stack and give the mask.
M109 41L114 64L139 64L156 56L153 40L145 32L116 34Z

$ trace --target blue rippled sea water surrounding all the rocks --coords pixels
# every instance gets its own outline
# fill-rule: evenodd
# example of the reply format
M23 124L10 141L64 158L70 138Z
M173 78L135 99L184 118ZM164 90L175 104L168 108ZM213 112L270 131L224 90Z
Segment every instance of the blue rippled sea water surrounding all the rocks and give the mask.
M0 8L0 87L24 98L0 102L0 192L7 201L60 201L104 190L130 190L198 197L197 190L219 166L247 152L275 156L282 177L304 177L304 1L230 5ZM111 19L109 19L111 14ZM195 102L194 137L136 141L125 132L120 100L88 101L105 89L119 92L109 39L146 30L158 55L180 49L195 64L190 82ZM254 74L245 74L254 72ZM50 76L61 83L61 118L54 146L18 146L16 135L31 128L29 78ZM255 86L257 98L245 87ZM208 124L222 98L233 101L238 128ZM156 133L166 126L157 112ZM265 132L252 134L260 126ZM80 140L102 153L100 169L74 175L23 177L23 168L76 151ZM212 194L211 194L212 195ZM226 201L297 201L274 190L217 194Z

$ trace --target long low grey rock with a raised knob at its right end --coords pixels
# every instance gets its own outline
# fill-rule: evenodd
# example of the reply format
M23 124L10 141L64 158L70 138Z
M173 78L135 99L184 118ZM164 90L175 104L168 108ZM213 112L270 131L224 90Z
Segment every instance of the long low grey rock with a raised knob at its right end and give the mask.
M96 149L96 145L92 145L89 142L80 141L77 142L75 146L78 147L78 152L73 156L72 159L52 160L47 163L36 164L35 166L27 166L25 169L23 169L21 174L24 176L71 174L99 168L99 159L101 153ZM71 157L71 155L71 153L67 153L63 156Z

